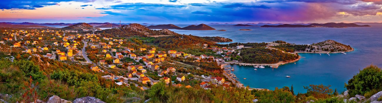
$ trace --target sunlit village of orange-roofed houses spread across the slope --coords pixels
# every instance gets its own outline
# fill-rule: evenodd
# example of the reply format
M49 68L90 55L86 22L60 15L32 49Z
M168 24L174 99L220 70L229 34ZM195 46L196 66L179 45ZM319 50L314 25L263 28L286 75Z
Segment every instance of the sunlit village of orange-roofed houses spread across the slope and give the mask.
M214 56L192 55L182 51L168 50L153 45L138 45L125 38L107 38L97 33L80 34L70 30L3 30L0 43L9 46L6 52L21 52L37 57L46 57L66 63L89 65L89 70L104 74L102 78L113 80L117 85L135 85L146 90L160 81L167 85L192 88L198 85L204 89L223 86L224 88L243 87L240 82L224 72L221 76L201 75L187 72L199 69L185 64L183 59L192 62L216 62L218 65L231 60L236 49L209 47L203 49L214 52ZM219 71L212 71L219 72ZM232 81L233 80L233 81ZM231 83L233 82L233 83ZM197 83L197 84L195 84ZM213 85L213 86L212 86Z

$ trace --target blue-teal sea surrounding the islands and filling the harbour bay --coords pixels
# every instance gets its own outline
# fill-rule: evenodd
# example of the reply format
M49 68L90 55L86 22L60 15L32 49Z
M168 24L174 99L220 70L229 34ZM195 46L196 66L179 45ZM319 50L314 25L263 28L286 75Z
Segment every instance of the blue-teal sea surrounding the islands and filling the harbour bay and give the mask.
M175 24L180 27L186 24ZM191 25L191 24L189 24ZM346 90L345 83L356 75L359 70L369 66L382 67L382 25L368 24L371 27L351 28L261 28L255 26L231 26L232 24L207 24L217 30L178 30L170 29L179 34L195 36L220 36L230 38L231 43L262 43L277 40L294 44L312 44L325 40L334 40L354 48L346 54L312 54L299 53L302 57L295 63L280 65L277 69L265 67L254 70L253 66L227 65L234 67L239 81L251 88L291 87L295 93L306 93L304 86L330 85L338 92ZM149 26L149 25L147 25ZM251 29L240 31L239 29ZM222 43L227 44L227 43ZM285 76L289 75L290 78ZM246 78L246 79L243 79Z

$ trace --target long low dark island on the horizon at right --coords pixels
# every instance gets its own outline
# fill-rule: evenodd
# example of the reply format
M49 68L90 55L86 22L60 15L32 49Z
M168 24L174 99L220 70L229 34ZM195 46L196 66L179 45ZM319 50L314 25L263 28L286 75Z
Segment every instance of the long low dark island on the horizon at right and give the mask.
M325 23L318 24L312 23L310 25L263 25L260 27L274 27L274 28L307 28L307 27L321 27L321 28L347 28L347 27L369 27L370 25L357 25L355 23Z

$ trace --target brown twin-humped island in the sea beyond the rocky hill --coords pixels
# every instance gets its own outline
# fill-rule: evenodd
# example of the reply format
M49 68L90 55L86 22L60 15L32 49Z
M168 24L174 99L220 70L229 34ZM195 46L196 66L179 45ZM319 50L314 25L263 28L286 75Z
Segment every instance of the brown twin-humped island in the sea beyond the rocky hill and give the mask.
M168 24L168 25L151 25L147 26L149 29L182 29L182 30L215 30L215 28L212 28L205 24L200 25L189 25L184 28L180 28L179 26Z

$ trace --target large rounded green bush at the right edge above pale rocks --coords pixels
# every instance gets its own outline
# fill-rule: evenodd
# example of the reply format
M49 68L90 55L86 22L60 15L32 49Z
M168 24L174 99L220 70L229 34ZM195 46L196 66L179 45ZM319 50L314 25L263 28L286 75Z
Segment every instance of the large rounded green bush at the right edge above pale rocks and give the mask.
M370 65L354 75L345 87L351 96L359 94L370 97L382 91L382 71L379 67Z

